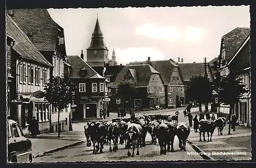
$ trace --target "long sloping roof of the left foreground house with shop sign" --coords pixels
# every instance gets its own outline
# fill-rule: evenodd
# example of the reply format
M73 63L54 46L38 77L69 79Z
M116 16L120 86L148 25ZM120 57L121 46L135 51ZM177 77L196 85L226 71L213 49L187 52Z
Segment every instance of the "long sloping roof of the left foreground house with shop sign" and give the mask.
M19 54L20 58L35 61L37 63L51 67L52 64L49 63L44 55L35 47L35 45L30 41L28 36L18 27L18 25L12 20L12 18L7 15L7 25L6 32L8 36L13 37L15 40L13 49Z

